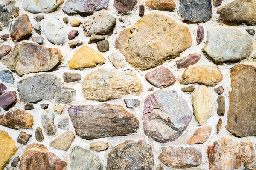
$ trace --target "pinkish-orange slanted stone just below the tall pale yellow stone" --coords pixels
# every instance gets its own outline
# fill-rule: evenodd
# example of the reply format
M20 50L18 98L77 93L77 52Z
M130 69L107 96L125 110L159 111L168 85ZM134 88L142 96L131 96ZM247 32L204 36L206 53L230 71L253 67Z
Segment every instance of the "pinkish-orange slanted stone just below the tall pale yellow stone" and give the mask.
M209 138L212 132L212 127L210 126L203 126L198 128L193 136L189 138L187 144L202 144Z

